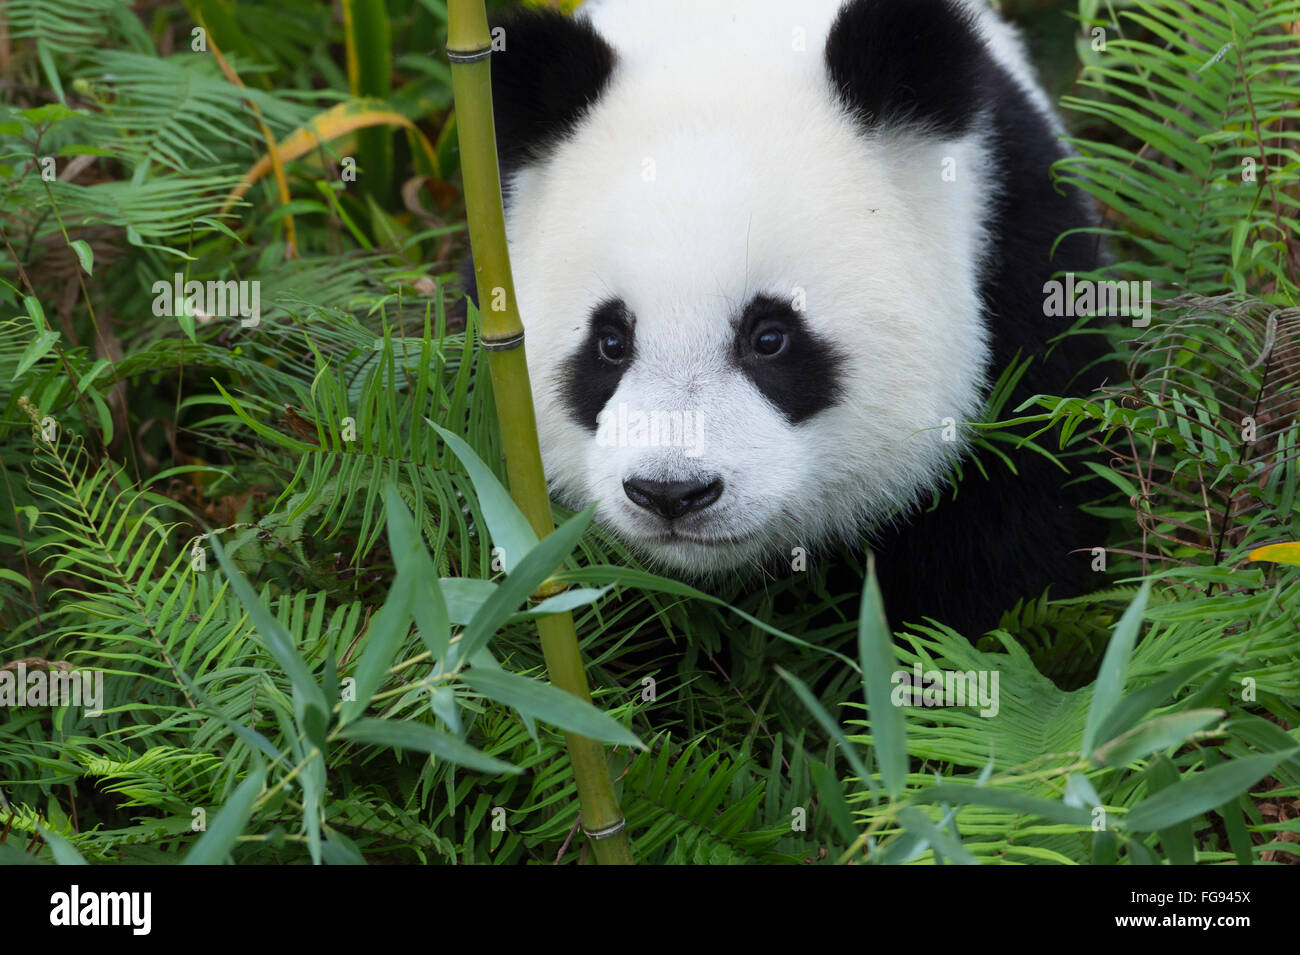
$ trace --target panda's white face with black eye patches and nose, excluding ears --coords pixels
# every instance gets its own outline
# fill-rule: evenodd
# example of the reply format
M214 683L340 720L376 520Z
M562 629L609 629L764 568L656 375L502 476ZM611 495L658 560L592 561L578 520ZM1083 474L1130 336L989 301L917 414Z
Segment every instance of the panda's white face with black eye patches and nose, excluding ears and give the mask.
M985 386L992 190L978 125L863 129L819 52L838 4L812 4L806 51L788 4L722 39L731 4L677 6L595 8L611 69L507 168L507 233L552 491L708 576L942 479Z

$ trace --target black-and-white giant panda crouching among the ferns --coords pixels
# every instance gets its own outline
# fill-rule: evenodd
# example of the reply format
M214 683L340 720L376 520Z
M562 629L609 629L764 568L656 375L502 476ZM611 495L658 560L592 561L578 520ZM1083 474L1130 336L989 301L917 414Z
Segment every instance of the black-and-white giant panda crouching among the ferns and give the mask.
M688 579L864 543L890 621L1084 586L1041 456L952 494L991 383L1063 394L1093 265L1061 127L978 0L589 0L499 21L507 239L555 498ZM472 269L472 262L469 265ZM935 500L939 505L935 507ZM774 570L774 568L776 568Z

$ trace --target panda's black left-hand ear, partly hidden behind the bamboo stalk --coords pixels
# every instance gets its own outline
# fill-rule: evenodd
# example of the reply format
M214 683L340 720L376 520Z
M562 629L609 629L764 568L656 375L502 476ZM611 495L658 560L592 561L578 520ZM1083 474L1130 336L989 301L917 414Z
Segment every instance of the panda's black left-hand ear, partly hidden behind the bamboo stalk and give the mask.
M614 49L585 19L519 10L493 30L493 112L503 169L538 159L599 99Z

